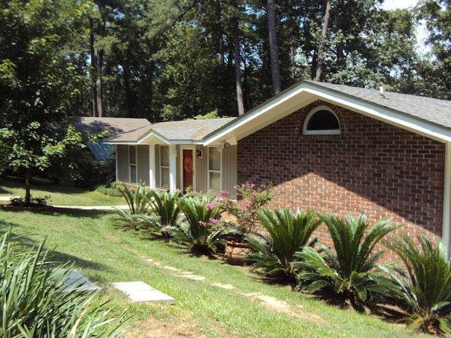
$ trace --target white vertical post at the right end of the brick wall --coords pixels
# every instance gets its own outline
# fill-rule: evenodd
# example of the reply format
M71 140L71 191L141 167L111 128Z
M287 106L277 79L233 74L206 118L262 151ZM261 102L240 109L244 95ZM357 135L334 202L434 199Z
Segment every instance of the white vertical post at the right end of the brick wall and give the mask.
M443 225L442 238L445 242L447 258L450 258L451 250L451 142L445 143L445 175L443 187Z

